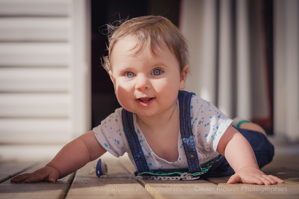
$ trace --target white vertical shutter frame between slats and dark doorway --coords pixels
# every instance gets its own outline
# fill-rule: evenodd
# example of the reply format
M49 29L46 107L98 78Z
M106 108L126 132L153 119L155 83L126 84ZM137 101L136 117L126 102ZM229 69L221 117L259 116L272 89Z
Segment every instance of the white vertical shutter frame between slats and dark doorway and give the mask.
M77 137L91 128L90 1L72 0L70 14L72 19L70 89L73 99L71 118L72 131Z

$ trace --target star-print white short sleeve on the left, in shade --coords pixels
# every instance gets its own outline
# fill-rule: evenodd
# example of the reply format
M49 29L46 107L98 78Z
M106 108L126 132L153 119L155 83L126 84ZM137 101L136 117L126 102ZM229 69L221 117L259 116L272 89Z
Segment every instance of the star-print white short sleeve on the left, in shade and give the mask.
M101 124L93 128L98 142L112 155L119 157L127 152L128 142L123 130L122 108L104 119Z

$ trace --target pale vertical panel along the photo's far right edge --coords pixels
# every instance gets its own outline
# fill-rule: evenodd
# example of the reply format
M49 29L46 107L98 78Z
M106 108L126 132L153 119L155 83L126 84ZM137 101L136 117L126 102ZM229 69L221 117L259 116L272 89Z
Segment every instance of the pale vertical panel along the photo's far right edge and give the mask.
M299 1L275 4L275 134L298 141L299 123Z

